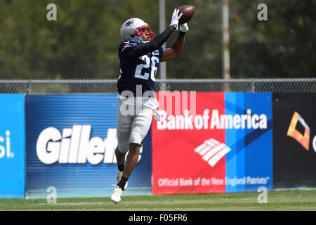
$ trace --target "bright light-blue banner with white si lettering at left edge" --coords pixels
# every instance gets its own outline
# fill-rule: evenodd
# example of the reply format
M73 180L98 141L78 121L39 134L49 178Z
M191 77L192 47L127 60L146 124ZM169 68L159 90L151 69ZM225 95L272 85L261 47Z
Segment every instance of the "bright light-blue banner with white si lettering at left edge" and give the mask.
M0 198L25 197L23 94L0 94Z

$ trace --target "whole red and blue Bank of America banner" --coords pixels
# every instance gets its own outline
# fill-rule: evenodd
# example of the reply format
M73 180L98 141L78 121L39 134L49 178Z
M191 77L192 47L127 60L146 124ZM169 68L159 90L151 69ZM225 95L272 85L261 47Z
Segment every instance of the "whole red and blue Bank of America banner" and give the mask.
M270 93L157 94L152 123L152 191L272 191Z

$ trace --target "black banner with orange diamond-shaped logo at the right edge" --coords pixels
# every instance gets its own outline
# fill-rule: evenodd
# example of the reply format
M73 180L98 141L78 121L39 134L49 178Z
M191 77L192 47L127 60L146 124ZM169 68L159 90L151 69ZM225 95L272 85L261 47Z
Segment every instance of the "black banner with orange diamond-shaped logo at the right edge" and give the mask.
M316 187L316 93L273 97L273 186Z

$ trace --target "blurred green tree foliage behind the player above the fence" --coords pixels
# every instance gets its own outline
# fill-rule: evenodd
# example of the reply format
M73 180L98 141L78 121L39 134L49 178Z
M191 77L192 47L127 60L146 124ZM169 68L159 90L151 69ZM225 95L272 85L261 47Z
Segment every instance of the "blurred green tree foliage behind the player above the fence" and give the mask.
M46 19L50 3L57 21ZM260 3L230 1L231 77L316 75L316 0L265 0L262 22ZM166 26L185 4L195 6L195 16L183 52L167 63L168 77L220 78L221 1L168 0ZM119 28L133 17L159 34L159 1L0 0L0 79L117 79Z

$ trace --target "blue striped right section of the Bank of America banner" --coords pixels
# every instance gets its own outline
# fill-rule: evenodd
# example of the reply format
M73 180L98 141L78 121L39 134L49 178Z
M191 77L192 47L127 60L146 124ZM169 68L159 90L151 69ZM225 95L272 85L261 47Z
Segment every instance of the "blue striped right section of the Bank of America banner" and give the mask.
M226 192L272 191L272 96L270 93L225 93Z

